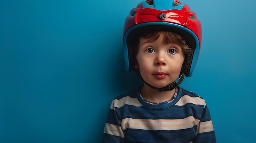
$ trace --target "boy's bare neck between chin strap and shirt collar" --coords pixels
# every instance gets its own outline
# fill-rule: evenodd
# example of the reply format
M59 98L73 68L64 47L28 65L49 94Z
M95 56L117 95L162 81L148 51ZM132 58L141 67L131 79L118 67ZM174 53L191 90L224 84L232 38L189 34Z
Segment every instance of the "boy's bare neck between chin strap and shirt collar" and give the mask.
M175 93L175 89L171 91L159 92L157 89L150 88L146 84L141 88L141 96L150 102L164 102L171 100Z

